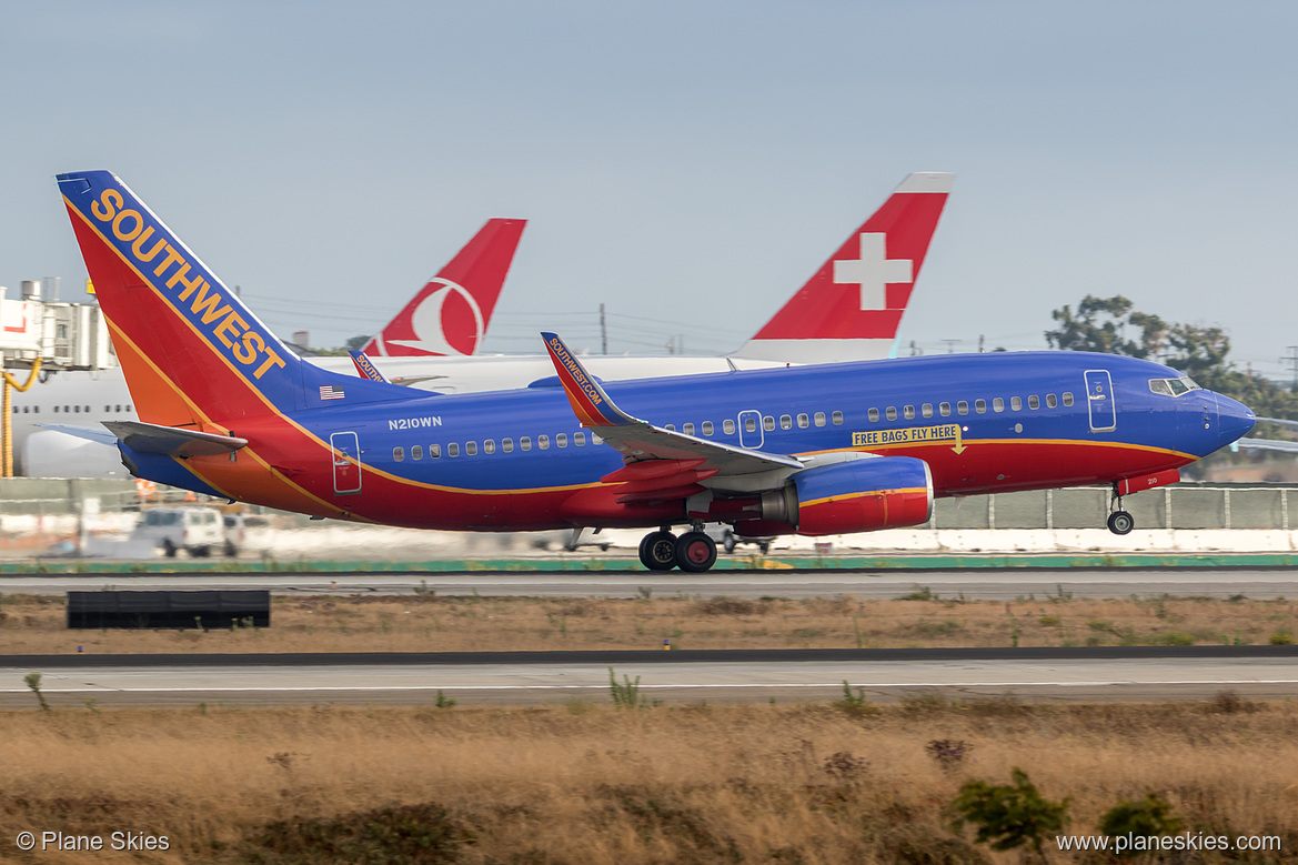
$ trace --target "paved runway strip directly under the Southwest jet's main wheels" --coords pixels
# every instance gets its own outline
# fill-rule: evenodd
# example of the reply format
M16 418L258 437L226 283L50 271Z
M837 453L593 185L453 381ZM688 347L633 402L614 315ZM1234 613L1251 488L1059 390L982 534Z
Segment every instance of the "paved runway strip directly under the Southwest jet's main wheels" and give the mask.
M515 597L833 597L893 599L928 588L942 597L1015 600L1059 592L1073 597L1197 595L1298 597L1298 569L1006 569L1006 570L754 570L680 571L409 571L409 573L205 573L6 574L0 592L62 595L69 590L269 588L275 595L376 594Z

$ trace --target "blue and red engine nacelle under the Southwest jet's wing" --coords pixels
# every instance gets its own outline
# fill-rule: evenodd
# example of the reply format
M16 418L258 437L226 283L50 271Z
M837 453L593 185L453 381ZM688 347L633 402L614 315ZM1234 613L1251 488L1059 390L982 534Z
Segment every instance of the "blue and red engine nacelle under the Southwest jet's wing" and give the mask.
M933 516L933 477L914 457L874 457L793 475L800 535L901 529ZM765 514L763 514L765 516Z

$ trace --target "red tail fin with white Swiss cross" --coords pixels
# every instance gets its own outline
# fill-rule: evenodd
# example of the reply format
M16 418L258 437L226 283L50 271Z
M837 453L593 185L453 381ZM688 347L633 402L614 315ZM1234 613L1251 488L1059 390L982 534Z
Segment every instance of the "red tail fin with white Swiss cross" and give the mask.
M902 181L737 357L829 364L887 357L954 174Z

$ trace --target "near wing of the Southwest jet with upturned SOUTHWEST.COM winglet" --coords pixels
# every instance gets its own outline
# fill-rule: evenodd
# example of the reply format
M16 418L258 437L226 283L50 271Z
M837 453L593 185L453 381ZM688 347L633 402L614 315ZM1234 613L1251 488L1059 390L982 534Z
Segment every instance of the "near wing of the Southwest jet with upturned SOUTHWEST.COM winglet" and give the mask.
M620 451L627 464L624 469L602 478L605 482L633 481L645 492L666 497L666 491L672 487L706 479L714 488L779 487L788 475L806 468L794 457L710 442L632 417L613 404L563 340L554 334L543 332L541 336L582 426ZM643 465L649 462L658 465Z

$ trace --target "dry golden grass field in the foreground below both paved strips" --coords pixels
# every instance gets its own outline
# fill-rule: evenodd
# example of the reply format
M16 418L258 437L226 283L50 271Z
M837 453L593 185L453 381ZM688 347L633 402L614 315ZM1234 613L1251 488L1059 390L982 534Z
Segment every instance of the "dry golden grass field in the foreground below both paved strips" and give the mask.
M323 831L302 821L400 823L366 812L426 805L426 830L437 804L465 862L1015 862L953 834L944 809L964 781L1018 766L1072 797L1070 831L1157 791L1194 831L1281 835L1266 861L1298 861L1293 703L30 710L0 725L0 857L22 830L129 829L170 838L145 861L452 861L284 852ZM944 768L935 739L972 747Z

